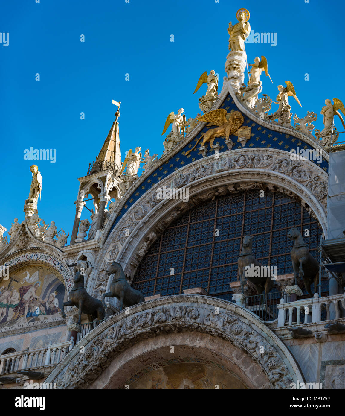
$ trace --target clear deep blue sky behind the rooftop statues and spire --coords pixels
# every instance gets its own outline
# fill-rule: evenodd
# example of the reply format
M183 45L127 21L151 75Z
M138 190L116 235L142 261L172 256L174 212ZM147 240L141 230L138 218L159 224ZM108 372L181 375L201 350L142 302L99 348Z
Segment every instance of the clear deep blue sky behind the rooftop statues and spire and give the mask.
M200 111L205 86L193 91L202 72L219 73L220 92L229 52L227 27L237 22L240 7L249 10L254 32L276 33L275 47L246 44L248 62L257 55L268 61L274 85L261 77L262 92L275 99L278 84L293 82L303 106L291 99L293 114L317 112L315 125L322 129L319 113L325 99L345 102L343 36L337 23L342 2L1 2L0 32L9 32L9 44L0 44L0 224L9 229L15 217L24 219L29 167L35 163L43 177L39 217L71 233L77 178L86 175L115 119L112 99L121 101L122 158L136 146L160 156L170 111L183 107L187 118ZM340 121L335 123L342 131ZM56 149L56 162L24 160L30 147ZM84 209L81 218L88 217Z

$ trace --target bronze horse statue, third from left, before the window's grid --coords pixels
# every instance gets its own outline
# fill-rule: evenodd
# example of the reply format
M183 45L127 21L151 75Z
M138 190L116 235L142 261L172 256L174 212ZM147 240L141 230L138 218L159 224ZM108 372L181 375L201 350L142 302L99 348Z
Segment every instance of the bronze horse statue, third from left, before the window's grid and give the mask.
M262 264L256 260L253 253L251 252L252 239L250 235L245 235L242 243L242 251L237 260L238 270L239 270L239 279L241 281L241 292L244 293L244 279L245 277L245 267L253 264L261 268ZM249 282L252 282L255 286L256 292L258 295L262 295L263 290L265 294L273 287L273 280L271 276L247 276Z

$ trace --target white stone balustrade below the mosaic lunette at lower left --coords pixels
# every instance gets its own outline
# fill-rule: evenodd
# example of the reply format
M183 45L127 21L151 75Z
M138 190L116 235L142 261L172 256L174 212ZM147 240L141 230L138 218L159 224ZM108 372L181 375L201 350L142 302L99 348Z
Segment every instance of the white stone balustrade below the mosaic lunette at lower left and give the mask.
M73 337L70 341L48 345L47 347L0 355L0 374L59 364L72 348Z

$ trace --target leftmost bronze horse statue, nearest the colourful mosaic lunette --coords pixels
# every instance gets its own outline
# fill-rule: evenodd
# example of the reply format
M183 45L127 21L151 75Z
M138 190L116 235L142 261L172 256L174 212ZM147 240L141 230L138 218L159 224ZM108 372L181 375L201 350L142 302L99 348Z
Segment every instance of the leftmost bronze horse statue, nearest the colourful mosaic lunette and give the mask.
M69 300L62 304L62 317L66 318L64 312L65 306L76 306L79 308L78 325L80 325L82 313L87 314L89 322L94 321L96 318L98 321L104 319L106 311L103 308L102 302L86 292L86 289L84 288L84 275L81 270L76 272L73 281L74 286L69 292Z

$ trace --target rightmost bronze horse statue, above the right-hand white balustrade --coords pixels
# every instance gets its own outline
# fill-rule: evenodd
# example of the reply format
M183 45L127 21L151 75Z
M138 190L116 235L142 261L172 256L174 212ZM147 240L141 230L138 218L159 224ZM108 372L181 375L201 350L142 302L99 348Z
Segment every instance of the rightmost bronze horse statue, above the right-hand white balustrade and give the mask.
M313 297L311 284L314 282L314 292L317 292L319 264L309 253L303 237L296 227L292 227L288 232L288 238L294 240L293 248L291 249L291 262L295 285L297 285L297 276L299 276L303 280L308 295Z

